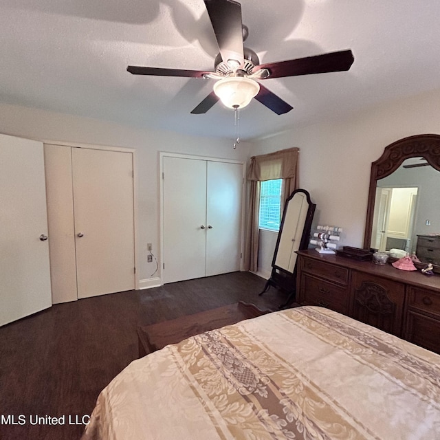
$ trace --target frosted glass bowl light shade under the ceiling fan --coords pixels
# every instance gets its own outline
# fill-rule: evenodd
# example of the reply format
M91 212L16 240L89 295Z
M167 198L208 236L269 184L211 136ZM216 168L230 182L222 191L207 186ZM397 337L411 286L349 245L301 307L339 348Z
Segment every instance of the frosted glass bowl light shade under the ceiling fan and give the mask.
M259 83L243 76L222 78L214 84L214 94L230 109L243 109L259 91Z

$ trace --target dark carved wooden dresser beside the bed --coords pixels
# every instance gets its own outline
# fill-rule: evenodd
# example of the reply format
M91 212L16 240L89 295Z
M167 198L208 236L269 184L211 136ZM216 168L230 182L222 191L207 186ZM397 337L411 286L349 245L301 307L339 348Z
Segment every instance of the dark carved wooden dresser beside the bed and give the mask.
M298 251L296 302L319 305L440 353L440 276Z

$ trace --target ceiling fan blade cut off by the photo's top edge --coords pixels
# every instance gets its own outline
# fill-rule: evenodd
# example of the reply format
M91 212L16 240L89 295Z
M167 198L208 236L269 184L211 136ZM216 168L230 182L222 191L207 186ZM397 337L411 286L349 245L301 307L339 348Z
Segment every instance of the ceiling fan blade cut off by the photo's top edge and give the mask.
M233 0L204 0L224 63L243 63L241 5Z

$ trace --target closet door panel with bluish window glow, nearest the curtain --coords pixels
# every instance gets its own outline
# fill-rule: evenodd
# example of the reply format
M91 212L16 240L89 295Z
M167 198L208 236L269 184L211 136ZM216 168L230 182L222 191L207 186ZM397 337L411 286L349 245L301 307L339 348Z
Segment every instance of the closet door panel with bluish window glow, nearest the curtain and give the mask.
M241 262L243 165L208 162L207 188L206 276L235 272Z

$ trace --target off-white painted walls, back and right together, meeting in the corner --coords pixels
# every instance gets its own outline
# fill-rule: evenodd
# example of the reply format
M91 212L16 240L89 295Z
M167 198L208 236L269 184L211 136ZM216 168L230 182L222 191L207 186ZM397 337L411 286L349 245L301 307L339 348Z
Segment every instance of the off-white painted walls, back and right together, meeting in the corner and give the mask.
M383 104L347 120L303 126L252 144L241 142L236 150L231 140L147 131L7 104L0 104L0 133L135 148L137 276L142 281L155 270L155 263L146 263L146 243L153 243L159 259L159 151L245 160L297 146L300 186L317 204L314 225L338 225L344 229L340 245L362 247L371 162L402 137L440 133L439 102L440 90ZM261 274L270 273L275 242L276 234L261 240Z

